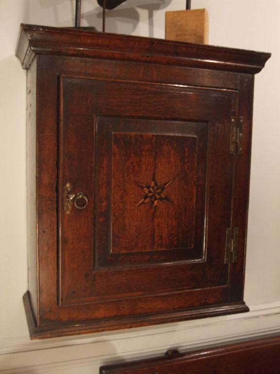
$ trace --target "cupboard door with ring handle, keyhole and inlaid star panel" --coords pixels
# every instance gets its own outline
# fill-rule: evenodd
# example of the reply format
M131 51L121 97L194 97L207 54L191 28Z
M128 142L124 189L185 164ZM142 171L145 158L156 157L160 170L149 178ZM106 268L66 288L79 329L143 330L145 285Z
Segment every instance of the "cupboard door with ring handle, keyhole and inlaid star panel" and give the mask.
M58 318L128 326L228 308L236 92L60 87Z

